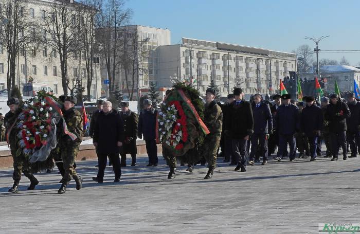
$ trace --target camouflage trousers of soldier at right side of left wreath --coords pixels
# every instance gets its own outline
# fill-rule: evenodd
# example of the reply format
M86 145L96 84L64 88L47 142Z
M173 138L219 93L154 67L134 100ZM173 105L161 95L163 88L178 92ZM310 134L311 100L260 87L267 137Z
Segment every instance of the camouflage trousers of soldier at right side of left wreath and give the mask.
M61 160L63 161L64 175L63 179L66 182L71 181L71 178L76 176L74 163L79 152L80 143L72 141L63 141L60 145Z

